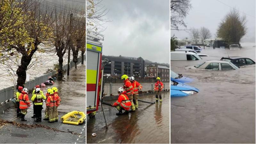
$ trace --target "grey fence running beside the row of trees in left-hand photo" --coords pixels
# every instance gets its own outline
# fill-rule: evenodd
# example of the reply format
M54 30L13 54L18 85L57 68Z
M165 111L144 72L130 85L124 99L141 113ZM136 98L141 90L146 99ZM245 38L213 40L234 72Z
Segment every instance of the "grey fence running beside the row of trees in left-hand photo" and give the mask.
M85 58L85 55L84 55L84 58ZM81 63L81 61L82 61L81 57L77 58L77 63ZM70 61L69 67L72 68L74 66L75 66L75 63L73 61ZM68 69L68 64L63 66L63 71L66 71L67 69ZM37 84L40 85L41 83L44 83L45 81L48 80L49 76L53 76L54 74L56 74L55 70L43 76L35 77L33 80L30 80L25 83L26 88L28 90L32 90L34 89L35 85ZM16 92L16 86L11 86L11 87L0 90L0 103L12 99L15 92Z

